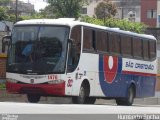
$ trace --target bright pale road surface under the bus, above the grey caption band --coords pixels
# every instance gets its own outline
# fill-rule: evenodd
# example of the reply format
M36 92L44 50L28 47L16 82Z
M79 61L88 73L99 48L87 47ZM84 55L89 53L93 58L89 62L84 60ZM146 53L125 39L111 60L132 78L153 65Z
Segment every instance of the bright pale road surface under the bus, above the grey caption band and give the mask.
M32 104L0 102L0 114L160 114L157 106Z

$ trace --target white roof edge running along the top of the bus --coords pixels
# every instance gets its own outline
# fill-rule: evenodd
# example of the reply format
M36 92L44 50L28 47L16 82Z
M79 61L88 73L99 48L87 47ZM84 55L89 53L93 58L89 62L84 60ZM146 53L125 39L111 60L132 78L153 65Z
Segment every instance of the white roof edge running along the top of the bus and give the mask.
M137 37L143 37L146 39L156 40L156 38L152 35L138 34L131 31L120 30L119 28L109 28L109 27L95 25L91 23L80 22L80 21L76 21L74 18L31 19L31 20L19 21L15 25L65 25L70 27L73 27L75 25L82 25L82 26L88 26L88 27L98 28L102 30L107 30L111 32L117 32L117 33L122 33L127 35L133 35Z

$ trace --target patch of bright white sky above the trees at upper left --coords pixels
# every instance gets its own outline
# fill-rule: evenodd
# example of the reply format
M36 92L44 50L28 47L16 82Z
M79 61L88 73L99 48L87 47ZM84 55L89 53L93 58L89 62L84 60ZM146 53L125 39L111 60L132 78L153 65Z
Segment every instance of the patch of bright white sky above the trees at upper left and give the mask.
M43 9L48 5L43 0L20 0L20 1L24 1L24 2L28 2L29 1L30 3L34 4L34 9L36 11L39 11L39 9Z

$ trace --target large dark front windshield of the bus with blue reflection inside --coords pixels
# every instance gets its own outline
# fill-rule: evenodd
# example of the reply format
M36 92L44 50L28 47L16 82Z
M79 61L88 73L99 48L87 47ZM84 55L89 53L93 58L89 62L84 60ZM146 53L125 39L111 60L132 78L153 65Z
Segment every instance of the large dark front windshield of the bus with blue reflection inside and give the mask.
M8 51L7 72L63 73L69 27L15 26Z

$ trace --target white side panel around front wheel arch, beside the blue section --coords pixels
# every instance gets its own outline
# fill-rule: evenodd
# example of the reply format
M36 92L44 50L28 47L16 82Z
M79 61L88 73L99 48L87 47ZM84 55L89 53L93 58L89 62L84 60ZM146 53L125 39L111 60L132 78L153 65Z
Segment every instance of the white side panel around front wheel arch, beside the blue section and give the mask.
M78 67L75 70L75 76L77 74L77 80L73 82L72 95L78 95L79 89L84 80L87 80L90 84L90 96L95 96L96 73L98 72L98 55L90 54L88 57L87 53L82 53Z

